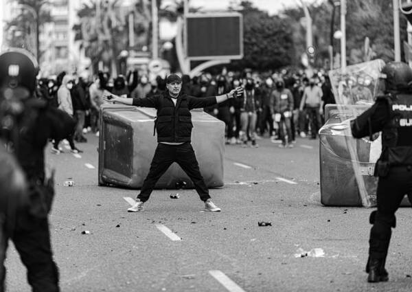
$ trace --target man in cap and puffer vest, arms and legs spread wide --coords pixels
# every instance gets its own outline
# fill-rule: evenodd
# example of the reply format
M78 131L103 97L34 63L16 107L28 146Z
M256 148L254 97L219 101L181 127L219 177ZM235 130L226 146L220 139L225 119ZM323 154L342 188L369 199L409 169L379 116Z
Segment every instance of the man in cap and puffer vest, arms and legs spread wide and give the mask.
M160 95L139 99L120 98L114 95L106 96L106 100L113 103L157 109L157 120L155 121L157 148L150 164L149 173L144 180L140 194L137 196L137 202L133 207L128 208L128 212L144 210L144 202L148 201L155 184L173 162L179 164L187 176L192 179L196 192L205 202L205 210L220 211L220 208L211 201L209 190L201 175L192 144L190 144L193 128L190 110L234 98L236 93L242 91L242 88L233 89L222 96L208 98L187 96L185 93L181 93L181 88L181 78L176 74L170 74L166 80L166 91Z

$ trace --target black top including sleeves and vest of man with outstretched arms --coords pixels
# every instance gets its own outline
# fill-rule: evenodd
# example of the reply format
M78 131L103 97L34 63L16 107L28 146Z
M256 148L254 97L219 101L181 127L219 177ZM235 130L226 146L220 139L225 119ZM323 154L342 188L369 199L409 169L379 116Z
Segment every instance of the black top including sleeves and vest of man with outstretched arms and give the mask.
M216 104L216 97L195 98L185 93L179 94L176 106L168 91L157 96L134 98L134 106L157 109L157 142L190 142L192 137L191 109L198 109Z

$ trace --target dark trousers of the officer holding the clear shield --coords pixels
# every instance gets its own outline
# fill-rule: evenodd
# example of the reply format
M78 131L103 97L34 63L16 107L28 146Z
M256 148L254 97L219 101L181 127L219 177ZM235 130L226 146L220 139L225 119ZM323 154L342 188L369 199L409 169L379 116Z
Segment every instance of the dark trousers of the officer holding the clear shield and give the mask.
M406 166L392 167L385 177L380 177L377 190L378 210L371 221L369 256L386 258L391 240L391 227L396 225L395 212L405 194L412 194L412 170ZM374 218L373 218L374 217Z

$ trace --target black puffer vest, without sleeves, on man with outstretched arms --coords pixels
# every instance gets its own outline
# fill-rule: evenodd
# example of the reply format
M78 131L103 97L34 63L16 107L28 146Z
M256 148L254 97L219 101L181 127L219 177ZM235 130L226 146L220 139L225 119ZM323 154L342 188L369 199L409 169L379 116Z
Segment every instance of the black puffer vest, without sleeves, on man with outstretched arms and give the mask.
M168 92L159 96L155 123L157 142L190 142L193 124L186 95L179 95L176 106Z

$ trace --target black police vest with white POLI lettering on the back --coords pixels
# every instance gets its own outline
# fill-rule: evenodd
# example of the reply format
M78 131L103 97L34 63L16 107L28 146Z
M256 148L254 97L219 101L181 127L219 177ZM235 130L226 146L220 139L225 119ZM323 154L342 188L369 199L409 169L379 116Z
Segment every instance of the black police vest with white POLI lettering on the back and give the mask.
M382 130L382 160L412 165L412 94L385 96L390 120Z

